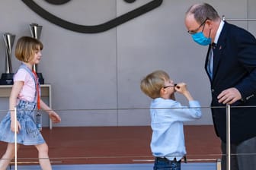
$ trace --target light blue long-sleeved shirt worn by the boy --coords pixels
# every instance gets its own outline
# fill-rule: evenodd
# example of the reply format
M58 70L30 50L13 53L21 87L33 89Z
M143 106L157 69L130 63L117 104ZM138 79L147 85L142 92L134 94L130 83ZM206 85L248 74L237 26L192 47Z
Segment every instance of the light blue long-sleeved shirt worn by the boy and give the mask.
M153 156L181 160L186 154L183 122L201 118L200 103L190 101L187 107L172 99L157 98L151 102L150 114Z

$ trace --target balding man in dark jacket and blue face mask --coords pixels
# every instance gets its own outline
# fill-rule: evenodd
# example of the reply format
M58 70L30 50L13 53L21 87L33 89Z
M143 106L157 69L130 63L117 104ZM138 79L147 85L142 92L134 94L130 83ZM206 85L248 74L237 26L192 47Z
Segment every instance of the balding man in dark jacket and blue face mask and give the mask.
M226 105L231 105L231 169L256 169L256 39L221 20L209 4L192 5L185 25L195 42L209 46L205 69L211 84L211 110L222 140L226 169Z

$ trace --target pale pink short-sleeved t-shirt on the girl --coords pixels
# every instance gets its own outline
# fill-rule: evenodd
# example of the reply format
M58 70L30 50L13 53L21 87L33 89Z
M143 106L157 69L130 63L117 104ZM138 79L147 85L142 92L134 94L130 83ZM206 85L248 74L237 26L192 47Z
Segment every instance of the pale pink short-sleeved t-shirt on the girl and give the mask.
M24 86L22 87L21 92L18 94L18 99L34 102L36 87L34 78L31 77L30 73L28 73L24 68L20 68L14 75L14 81L24 81Z

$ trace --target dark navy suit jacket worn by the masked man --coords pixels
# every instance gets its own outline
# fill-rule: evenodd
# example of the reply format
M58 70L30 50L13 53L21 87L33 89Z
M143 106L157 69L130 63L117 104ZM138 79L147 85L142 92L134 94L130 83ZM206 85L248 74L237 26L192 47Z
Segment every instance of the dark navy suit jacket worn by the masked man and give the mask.
M210 47L205 69L209 52ZM231 105L231 143L238 144L255 137L256 39L251 33L225 22L216 47L213 49L213 80L210 79L210 82L216 134L226 142L226 105L219 103L217 96L222 90L235 87L242 94L242 100Z

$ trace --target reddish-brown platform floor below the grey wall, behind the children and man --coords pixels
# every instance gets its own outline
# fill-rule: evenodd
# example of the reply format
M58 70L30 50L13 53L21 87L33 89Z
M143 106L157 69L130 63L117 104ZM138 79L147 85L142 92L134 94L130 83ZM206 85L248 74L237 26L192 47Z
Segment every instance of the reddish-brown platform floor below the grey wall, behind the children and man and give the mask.
M184 126L187 159L214 162L220 158L220 141L211 125ZM101 164L152 162L149 143L151 128L142 127L77 127L43 128L53 164ZM5 152L0 143L0 154ZM18 162L37 162L34 146L21 146Z

